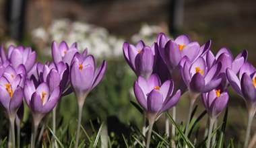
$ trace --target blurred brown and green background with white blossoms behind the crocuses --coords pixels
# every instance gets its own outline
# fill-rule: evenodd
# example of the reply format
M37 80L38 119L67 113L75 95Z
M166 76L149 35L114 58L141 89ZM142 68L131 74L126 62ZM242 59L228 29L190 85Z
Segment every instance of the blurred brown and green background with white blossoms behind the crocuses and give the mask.
M105 78L86 100L83 120L87 124L100 117L122 127L141 122L136 116L139 112L130 104L136 102L132 89L136 78L123 59L125 40L133 44L144 40L150 46L158 32L172 38L188 34L201 45L211 39L214 53L225 46L236 57L247 49L248 61L256 63L255 6L255 0L0 0L0 43L5 48L9 44L32 46L43 63L51 61L53 40L66 40L69 45L77 42L79 50L87 47L98 64L106 59ZM243 141L239 135L245 134L245 103L230 91L227 133ZM187 117L187 94L183 98L177 107L178 122ZM197 104L201 114L200 99ZM63 98L59 108L66 108L59 109L63 124L75 122L77 108L72 95ZM28 116L24 120L29 120ZM205 122L201 122L203 128ZM255 128L253 124L252 133Z

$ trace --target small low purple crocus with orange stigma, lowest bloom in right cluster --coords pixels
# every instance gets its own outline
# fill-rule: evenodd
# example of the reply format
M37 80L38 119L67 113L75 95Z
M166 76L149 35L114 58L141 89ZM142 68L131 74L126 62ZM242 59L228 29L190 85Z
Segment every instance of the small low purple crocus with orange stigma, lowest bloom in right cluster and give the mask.
M202 100L208 116L216 120L228 104L228 92L221 89L212 89L202 94Z

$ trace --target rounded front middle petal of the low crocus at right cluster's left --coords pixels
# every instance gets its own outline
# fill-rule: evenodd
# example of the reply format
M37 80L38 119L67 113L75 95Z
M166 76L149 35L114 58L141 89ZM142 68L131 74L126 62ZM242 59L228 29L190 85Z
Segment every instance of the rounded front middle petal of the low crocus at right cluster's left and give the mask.
M164 98L159 90L152 90L148 94L148 112L158 113L164 103Z

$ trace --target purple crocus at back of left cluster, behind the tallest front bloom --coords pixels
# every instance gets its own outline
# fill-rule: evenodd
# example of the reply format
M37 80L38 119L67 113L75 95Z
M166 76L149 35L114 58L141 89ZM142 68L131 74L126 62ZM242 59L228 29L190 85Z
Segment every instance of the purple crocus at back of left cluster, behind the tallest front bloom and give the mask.
M55 63L63 61L70 66L73 56L77 52L77 43L73 43L70 47L67 46L65 41L62 41L60 44L57 44L55 41L52 43L52 56Z

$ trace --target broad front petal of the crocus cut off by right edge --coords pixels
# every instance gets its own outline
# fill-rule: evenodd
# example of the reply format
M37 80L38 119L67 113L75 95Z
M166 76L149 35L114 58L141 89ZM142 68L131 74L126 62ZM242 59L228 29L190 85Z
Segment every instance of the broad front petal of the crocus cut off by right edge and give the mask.
M244 73L241 79L241 90L246 100L256 102L256 91L253 85L253 79L247 73Z

